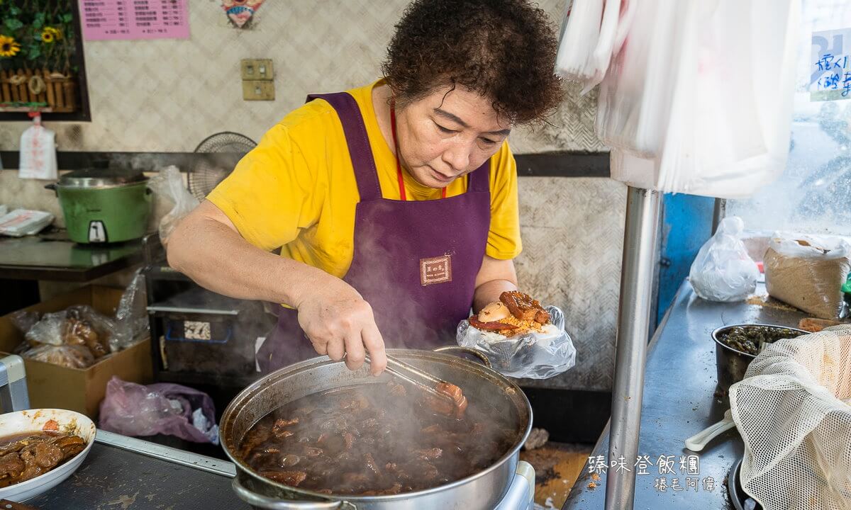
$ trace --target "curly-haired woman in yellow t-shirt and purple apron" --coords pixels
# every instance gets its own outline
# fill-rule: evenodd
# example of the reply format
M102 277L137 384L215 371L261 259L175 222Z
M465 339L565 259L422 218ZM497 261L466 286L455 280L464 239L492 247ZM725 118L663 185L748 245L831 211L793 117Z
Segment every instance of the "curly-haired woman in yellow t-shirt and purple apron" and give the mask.
M318 354L453 342L517 288L511 128L561 99L557 42L525 0L417 0L384 78L308 97L174 230L168 262L231 297L283 303L265 371ZM272 252L281 248L280 256Z

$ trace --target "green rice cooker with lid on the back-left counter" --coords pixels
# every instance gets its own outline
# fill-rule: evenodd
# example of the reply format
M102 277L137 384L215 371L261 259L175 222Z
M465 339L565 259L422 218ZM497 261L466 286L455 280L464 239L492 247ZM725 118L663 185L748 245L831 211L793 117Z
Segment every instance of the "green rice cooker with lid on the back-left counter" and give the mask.
M122 242L146 235L148 178L117 168L76 170L46 186L59 197L68 237L79 243Z

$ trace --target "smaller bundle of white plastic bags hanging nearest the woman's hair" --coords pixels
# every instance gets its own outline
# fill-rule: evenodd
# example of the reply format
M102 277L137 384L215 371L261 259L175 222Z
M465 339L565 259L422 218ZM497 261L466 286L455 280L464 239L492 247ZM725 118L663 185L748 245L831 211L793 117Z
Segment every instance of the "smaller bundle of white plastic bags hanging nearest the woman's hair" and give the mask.
M586 94L603 80L620 49L636 0L573 0L565 8L556 72L582 83Z

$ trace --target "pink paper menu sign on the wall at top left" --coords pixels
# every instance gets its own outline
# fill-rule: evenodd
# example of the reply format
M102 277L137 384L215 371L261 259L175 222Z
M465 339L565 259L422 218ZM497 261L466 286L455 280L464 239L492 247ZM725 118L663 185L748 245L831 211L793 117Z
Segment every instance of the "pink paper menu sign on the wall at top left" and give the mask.
M188 0L80 0L83 38L186 39Z

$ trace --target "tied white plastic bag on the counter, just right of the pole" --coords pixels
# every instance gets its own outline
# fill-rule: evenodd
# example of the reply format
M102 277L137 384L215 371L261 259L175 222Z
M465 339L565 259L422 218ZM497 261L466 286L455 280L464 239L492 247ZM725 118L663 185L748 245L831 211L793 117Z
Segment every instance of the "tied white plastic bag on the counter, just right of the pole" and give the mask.
M743 301L757 290L759 269L741 240L743 229L741 218L724 218L715 235L700 246L688 272L698 296L710 301Z

